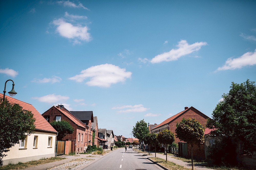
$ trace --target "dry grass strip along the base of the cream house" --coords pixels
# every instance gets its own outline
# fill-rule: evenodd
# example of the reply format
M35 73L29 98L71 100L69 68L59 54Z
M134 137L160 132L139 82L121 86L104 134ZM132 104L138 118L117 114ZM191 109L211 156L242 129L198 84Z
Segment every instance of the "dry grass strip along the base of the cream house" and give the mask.
M60 161L62 159L66 159L66 158L52 157L52 158L47 158L47 159L40 159L37 161L30 161L30 162L26 162L26 163L19 162L17 164L9 164L6 166L1 166L0 169L1 170L25 169L25 168L29 168L32 166L37 166L37 165L46 164L46 163L50 163L50 162Z

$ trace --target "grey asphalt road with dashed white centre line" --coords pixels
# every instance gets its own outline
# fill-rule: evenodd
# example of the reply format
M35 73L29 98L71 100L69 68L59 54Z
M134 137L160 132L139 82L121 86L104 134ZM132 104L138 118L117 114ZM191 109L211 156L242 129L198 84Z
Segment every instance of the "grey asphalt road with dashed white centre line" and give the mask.
M83 170L159 170L158 165L152 163L144 156L136 153L132 149L117 149L104 156L100 160L83 168ZM163 169L162 169L163 170Z

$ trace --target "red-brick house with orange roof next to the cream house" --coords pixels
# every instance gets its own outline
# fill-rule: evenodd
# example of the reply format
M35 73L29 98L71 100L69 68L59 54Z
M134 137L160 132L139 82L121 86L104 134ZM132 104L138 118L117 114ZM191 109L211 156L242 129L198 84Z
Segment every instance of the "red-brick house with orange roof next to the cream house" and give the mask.
M81 153L86 151L86 124L80 121L63 105L52 106L42 114L48 122L65 120L74 128L72 134L67 134L62 140L71 140L71 152Z

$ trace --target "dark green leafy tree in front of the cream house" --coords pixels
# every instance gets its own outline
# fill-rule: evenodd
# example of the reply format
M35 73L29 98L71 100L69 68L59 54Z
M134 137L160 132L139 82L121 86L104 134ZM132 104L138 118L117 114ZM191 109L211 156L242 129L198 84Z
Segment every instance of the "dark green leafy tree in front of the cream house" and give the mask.
M0 99L0 166L3 165L4 152L13 147L25 135L33 134L35 119L31 111L23 110L18 104L11 104Z

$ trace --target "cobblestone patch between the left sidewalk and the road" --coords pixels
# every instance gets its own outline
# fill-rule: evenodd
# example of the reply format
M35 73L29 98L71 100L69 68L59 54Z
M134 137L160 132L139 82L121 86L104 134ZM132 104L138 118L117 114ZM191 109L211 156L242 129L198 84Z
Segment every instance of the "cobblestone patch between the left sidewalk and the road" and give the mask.
M49 168L49 170L75 170L93 160L88 160L88 159L77 159L53 168Z

